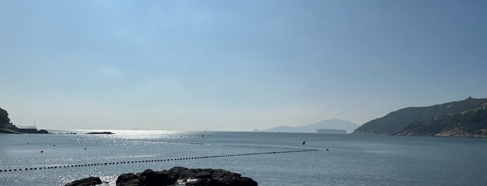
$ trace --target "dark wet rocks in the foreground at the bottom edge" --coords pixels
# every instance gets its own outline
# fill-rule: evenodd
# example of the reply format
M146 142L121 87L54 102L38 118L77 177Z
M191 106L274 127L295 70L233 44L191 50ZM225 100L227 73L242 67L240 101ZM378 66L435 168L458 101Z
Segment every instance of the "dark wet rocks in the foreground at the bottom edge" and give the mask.
M75 180L65 186L100 185L98 177ZM142 185L205 185L205 186L254 186L258 185L252 178L223 169L188 169L173 167L164 171L147 169L144 172L121 174L116 180L117 186Z

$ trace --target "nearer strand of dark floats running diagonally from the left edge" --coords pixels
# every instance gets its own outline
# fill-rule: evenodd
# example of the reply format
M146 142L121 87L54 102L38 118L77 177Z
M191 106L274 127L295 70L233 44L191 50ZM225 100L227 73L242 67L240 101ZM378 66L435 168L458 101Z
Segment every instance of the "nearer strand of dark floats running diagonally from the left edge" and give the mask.
M139 161L106 162L106 163L95 163L95 164L74 164L74 165L60 165L60 166L54 166L54 167L31 167L31 168L24 168L24 169L0 169L0 172L28 171L28 170L41 170L41 169L58 169L58 168L68 168L68 167L88 167L88 166L99 166L99 165L109 165L109 164L128 164L128 163L142 163L142 162L167 162L167 161L194 160L194 159L203 159L203 158L222 158L222 157L242 156L242 155L262 155L262 154L272 154L272 153L298 153L298 152L306 152L306 151L318 151L318 150L307 149L307 150L297 150L297 151L274 151L274 152L266 152L266 153L240 153L240 154L229 154L229 155L197 156L197 157L190 157L190 158L170 158L170 159L162 159L162 160L139 160Z

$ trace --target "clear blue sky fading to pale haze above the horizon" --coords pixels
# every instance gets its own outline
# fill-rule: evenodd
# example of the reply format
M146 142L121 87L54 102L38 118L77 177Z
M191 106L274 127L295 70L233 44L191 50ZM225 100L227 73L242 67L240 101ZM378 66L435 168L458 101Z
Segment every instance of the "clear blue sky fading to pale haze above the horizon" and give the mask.
M487 98L487 1L0 1L0 107L48 129L361 125Z

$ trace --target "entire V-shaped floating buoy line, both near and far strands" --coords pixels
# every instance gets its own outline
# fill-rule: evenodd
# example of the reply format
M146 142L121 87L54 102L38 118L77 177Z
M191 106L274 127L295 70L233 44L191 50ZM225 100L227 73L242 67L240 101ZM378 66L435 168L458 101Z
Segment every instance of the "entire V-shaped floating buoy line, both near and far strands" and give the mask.
M134 141L134 140L129 140L129 141ZM146 141L146 140L138 140L138 141L159 142L159 141ZM164 142L164 143L203 145L202 143L191 143L191 142ZM232 144L209 144L209 145L240 146L240 147L258 148L258 149L286 149L286 150L291 150L291 151L272 151L272 152L263 152L263 153L238 153L238 154L228 154L228 155L196 156L196 157L189 157L189 158L167 158L167 159L160 159L160 160L136 160L136 161L123 161L123 162L103 162L103 163L94 163L94 164L69 164L69 165L47 166L47 167L29 167L29 168L20 168L20 169L0 169L0 172L30 171L30 170L45 170L45 169L63 169L63 168L72 168L72 167L91 167L91 166L104 166L104 165L113 165L113 164L144 163L144 162L170 162L170 161L178 161L178 160L224 158L224 157L233 157L233 156L242 156L242 155L264 155L264 154L276 154L276 153L298 153L298 152L307 152L307 151L319 151L318 149L298 149L298 148L291 148L291 147L276 147L276 146L249 146L249 145L232 145ZM41 151L41 153L42 153L42 151Z

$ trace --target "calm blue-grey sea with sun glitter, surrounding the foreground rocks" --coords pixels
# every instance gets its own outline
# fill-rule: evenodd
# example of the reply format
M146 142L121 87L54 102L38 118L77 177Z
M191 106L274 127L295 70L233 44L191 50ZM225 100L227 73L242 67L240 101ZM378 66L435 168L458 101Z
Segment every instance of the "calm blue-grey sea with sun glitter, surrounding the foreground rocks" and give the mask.
M202 132L110 131L116 134L0 134L0 185L64 185L88 176L115 185L119 174L175 166L226 169L259 185L487 183L487 139L251 132L207 132L202 138ZM201 158L208 156L213 158Z

